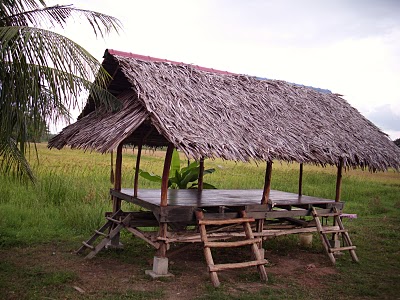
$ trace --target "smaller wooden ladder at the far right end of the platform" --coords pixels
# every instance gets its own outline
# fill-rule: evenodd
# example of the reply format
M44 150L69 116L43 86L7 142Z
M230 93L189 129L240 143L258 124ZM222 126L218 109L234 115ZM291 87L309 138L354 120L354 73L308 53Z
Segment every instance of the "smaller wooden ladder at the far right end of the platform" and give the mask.
M348 230L344 228L342 219L340 217L341 213L336 209L336 207L332 208L332 212L327 213L327 214L320 214L318 211L313 207L312 211L315 223L317 225L317 229L321 238L322 245L324 246L326 253L329 256L329 259L333 264L336 263L336 258L334 256L335 253L340 252L340 251L349 251L351 258L353 259L354 262L358 262L358 257L356 254L356 246L353 245L350 235L348 233ZM333 217L333 224L338 226L339 229L336 230L325 230L322 226L320 217ZM333 235L341 235L342 237L342 242L344 244L343 247L336 247L335 245L332 245L331 241L328 239L328 234L333 234Z

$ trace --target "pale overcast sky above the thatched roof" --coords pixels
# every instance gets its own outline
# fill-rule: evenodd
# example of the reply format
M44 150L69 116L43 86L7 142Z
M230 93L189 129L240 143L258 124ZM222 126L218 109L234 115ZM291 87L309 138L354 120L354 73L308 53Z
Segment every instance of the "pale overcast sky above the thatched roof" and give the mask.
M56 30L99 61L115 49L329 89L400 138L400 0L66 1L47 4L121 21L105 39L83 19Z

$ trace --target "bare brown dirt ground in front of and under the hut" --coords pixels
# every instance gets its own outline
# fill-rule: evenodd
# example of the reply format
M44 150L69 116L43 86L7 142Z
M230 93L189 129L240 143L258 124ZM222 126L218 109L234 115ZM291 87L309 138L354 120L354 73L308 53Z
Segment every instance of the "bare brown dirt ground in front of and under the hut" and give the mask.
M193 245L170 258L170 270L175 275L169 279L152 280L144 274L151 269L151 259L146 261L127 260L124 251L105 252L92 260L78 256L64 244L17 248L1 251L3 260L24 268L40 266L47 271L72 271L77 279L69 285L77 295L96 296L99 291L123 292L162 291L163 299L194 299L204 293L206 285L211 286L200 245ZM223 253L222 260L238 256ZM215 257L216 258L216 257ZM300 285L303 288L324 289L324 276L335 274L336 269L322 253L306 250L286 255L267 252L267 273L270 288L285 288ZM216 262L218 263L219 261ZM238 269L219 273L225 290L229 293L256 292L266 287L259 281L256 268Z

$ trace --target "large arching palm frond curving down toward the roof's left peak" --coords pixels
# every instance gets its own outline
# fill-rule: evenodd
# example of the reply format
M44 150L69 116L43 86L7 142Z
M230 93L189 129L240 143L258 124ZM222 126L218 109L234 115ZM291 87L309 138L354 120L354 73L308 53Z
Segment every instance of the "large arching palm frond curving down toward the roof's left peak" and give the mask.
M66 97L71 107L77 106L77 97L84 89L92 91L94 98L101 96L98 101L115 100L101 91L110 75L90 53L62 35L40 28L0 27L0 45L7 45L0 47L0 80L11 77L33 89L48 85L58 98ZM95 78L96 86L92 83Z

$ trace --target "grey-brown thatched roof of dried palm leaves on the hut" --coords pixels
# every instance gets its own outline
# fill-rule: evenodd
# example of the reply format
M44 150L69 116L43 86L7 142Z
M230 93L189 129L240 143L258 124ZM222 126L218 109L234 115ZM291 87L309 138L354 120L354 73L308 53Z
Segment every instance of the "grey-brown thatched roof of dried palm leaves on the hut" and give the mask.
M49 147L113 150L121 142L187 156L284 160L400 169L400 150L336 94L198 66L108 50L103 66L117 112L88 101L79 120Z

